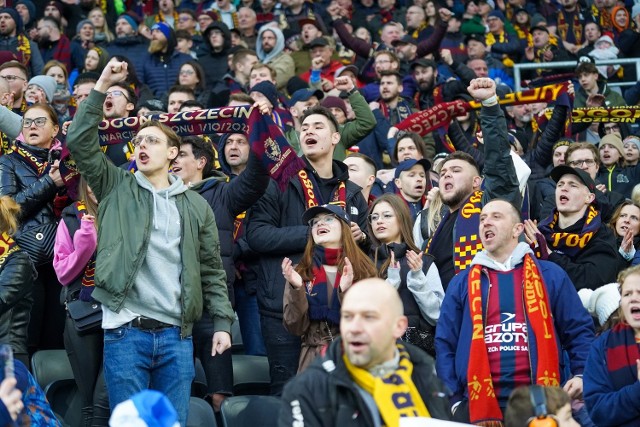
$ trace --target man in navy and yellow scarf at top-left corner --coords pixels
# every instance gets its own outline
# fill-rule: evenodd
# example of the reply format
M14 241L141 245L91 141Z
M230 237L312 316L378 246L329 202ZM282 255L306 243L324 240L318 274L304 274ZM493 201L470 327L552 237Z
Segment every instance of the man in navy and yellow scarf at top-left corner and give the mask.
M12 52L18 61L29 69L29 74L37 76L42 73L44 62L38 45L29 40L23 33L22 18L15 9L0 9L0 51ZM31 53L25 54L28 49Z

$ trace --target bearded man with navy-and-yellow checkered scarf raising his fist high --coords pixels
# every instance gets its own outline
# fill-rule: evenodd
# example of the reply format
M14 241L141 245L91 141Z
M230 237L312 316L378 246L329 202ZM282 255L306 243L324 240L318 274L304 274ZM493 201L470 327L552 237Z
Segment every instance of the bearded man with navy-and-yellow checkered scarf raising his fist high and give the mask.
M498 105L496 84L488 78L474 79L469 94L482 103L481 127L484 141L484 185L478 165L469 154L456 151L440 169L440 195L448 208L440 226L427 244L435 258L445 290L454 275L467 268L482 250L478 237L480 209L489 200L502 198L514 206L522 205L518 178L509 154L509 138L504 114Z

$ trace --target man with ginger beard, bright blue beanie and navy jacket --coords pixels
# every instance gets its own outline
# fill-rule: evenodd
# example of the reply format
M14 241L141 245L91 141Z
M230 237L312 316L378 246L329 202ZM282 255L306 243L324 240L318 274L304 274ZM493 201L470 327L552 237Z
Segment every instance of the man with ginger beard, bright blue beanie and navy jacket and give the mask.
M182 64L191 60L191 56L175 50L176 44L175 33L167 24L158 22L151 27L151 44L138 77L157 98L164 96L178 79Z

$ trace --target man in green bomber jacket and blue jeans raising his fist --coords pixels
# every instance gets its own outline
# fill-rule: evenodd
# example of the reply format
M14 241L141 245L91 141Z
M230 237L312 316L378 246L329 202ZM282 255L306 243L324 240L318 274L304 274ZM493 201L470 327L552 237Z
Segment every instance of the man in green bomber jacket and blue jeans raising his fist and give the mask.
M106 94L127 73L112 59L69 126L67 146L101 203L92 297L102 303L104 376L111 409L153 388L185 425L193 364L193 323L207 310L212 355L231 347L233 310L211 207L169 167L181 140L157 121L131 141L138 170L107 161L98 126ZM113 96L110 95L110 96Z

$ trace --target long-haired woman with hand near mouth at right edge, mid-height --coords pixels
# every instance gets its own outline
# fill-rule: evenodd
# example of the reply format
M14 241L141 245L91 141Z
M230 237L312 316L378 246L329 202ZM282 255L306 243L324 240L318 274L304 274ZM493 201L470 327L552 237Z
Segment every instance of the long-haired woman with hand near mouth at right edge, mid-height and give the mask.
M618 242L619 270L629 267L640 248L640 205L625 200L618 206L608 224Z

